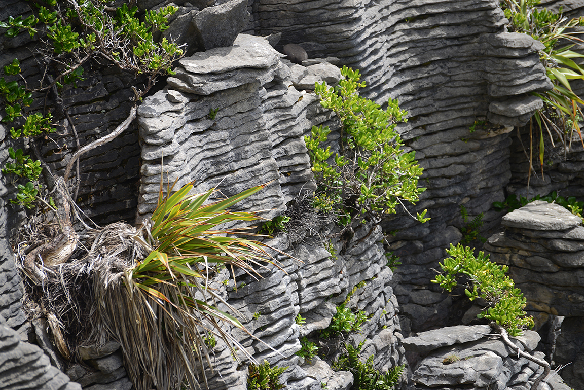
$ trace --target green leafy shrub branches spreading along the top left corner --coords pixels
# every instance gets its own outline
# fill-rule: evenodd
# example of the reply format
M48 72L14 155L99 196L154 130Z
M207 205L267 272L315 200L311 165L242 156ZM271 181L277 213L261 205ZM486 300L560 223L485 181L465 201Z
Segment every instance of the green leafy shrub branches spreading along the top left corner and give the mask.
M36 15L24 20L9 16L7 22L0 22L0 28L7 29L6 35L12 37L20 30L28 30L31 38L37 34L41 40L46 34L48 55L61 60L65 71L57 81L68 75L79 76L79 66L97 56L120 69L157 75L159 70L169 72L172 61L182 55L178 45L166 39L157 42L153 35L168 29L168 16L178 11L176 6L147 11L143 22L136 15L138 7L128 8L125 3L115 12L100 0L48 0L34 6Z

